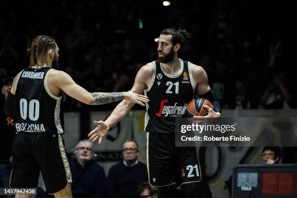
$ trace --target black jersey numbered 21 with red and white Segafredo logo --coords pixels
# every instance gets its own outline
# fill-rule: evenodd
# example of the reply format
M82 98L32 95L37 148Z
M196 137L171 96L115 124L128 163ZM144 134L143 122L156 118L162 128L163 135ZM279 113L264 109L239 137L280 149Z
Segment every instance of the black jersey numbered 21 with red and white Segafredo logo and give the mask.
M174 133L175 118L183 117L187 104L193 99L195 86L192 79L191 63L181 62L181 70L175 75L166 73L158 61L153 64L153 77L145 95L145 131L153 133Z

